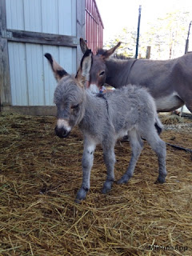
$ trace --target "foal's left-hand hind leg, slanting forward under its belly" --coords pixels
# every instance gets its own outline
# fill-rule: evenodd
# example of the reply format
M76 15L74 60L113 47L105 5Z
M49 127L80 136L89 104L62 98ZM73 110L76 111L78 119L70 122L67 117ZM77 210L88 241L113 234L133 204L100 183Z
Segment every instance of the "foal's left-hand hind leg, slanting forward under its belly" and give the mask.
M118 180L118 184L126 183L134 174L134 168L138 162L138 158L142 152L142 138L138 135L137 130L133 129L128 132L130 139L130 146L132 149L132 154L130 158L130 164L126 170L126 173L122 175L122 178Z

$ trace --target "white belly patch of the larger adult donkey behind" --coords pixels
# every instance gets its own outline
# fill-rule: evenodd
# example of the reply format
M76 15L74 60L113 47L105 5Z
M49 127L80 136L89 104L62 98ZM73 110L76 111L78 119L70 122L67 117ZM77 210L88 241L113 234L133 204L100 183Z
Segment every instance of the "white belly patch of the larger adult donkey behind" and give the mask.
M169 112L178 109L184 104L178 94L174 92L173 94L166 95L165 97L155 98L155 103L158 112Z

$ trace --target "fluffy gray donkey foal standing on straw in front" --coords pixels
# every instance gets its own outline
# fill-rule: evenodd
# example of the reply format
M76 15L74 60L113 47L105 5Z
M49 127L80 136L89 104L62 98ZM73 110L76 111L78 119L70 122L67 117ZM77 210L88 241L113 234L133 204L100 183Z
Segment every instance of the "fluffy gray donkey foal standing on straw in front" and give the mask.
M58 86L54 92L54 102L58 108L55 133L66 138L70 130L78 125L84 137L82 155L82 186L78 190L76 202L86 198L90 189L90 170L94 161L96 145L101 144L106 163L106 182L102 193L110 191L114 182L114 146L118 138L129 135L132 155L126 173L118 183L126 183L134 174L134 167L142 151L142 138L149 142L158 155L158 180L166 178L166 143L159 138L157 130L162 130L154 99L144 88L126 86L121 90L99 97L85 90L84 82L89 80L92 53L87 50L75 78L67 74L50 54L50 61Z

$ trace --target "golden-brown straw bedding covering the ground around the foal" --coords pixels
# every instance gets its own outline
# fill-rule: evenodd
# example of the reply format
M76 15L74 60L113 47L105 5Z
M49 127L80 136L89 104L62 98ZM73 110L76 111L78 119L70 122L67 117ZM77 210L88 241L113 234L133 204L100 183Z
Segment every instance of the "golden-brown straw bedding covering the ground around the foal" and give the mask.
M154 184L158 161L145 142L134 177L100 190L106 167L95 151L91 189L81 185L82 134L54 135L55 118L0 115L0 255L192 255L192 157L167 146L166 183ZM190 148L191 130L166 130L166 142ZM130 160L115 147L116 179Z

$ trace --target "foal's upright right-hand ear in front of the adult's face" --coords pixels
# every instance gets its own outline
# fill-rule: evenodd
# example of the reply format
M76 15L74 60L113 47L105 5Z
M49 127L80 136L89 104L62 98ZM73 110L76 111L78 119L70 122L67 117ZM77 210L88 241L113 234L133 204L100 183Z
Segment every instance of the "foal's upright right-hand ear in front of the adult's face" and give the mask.
M86 53L82 57L81 65L78 68L78 72L75 78L78 79L80 83L90 80L90 68L92 66L93 54L91 50L86 50Z

